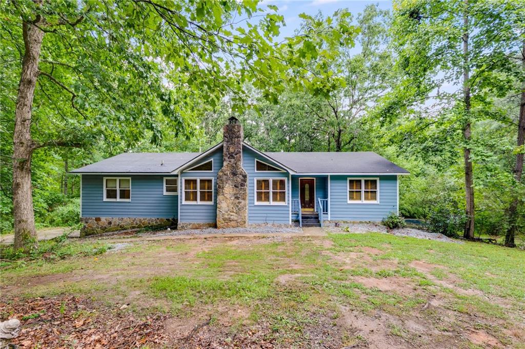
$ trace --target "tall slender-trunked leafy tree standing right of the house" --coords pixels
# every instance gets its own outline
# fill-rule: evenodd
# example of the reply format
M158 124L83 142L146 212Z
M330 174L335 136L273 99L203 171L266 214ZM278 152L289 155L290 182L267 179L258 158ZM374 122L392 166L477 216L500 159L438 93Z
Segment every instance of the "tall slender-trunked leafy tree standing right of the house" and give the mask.
M507 14L523 6L519 1L477 0L394 3L392 30L399 66L407 75L398 89L403 92L396 97L405 106L429 98L449 105L456 118L452 127L459 126L463 134L465 238L474 237L471 126L489 114L487 92L501 94L509 89L508 80L494 79L494 72L508 71L506 57L516 50L519 31Z

